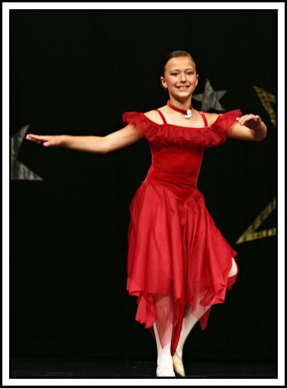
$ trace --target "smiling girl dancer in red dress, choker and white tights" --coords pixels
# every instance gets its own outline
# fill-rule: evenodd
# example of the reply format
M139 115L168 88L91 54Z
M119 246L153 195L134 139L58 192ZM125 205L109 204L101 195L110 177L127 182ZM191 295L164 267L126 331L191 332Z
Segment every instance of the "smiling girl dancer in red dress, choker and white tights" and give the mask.
M182 352L190 331L207 326L211 306L223 303L239 267L237 252L215 226L197 188L205 148L232 137L260 141L267 128L258 115L239 109L203 113L192 106L196 64L186 51L169 53L161 85L165 106L125 112L127 125L106 136L28 134L45 147L106 154L145 137L152 163L131 204L127 291L137 297L136 321L157 344L157 376L185 376Z

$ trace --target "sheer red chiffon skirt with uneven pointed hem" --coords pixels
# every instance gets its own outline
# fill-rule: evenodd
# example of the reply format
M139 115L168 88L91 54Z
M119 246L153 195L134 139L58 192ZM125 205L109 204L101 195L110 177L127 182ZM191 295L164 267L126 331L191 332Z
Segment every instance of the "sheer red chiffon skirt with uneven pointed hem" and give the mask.
M137 297L136 321L153 338L156 323L162 348L171 342L173 354L185 308L190 305L204 330L211 306L224 302L238 275L228 278L237 252L215 226L197 188L181 200L162 186L143 182L130 216L127 291Z

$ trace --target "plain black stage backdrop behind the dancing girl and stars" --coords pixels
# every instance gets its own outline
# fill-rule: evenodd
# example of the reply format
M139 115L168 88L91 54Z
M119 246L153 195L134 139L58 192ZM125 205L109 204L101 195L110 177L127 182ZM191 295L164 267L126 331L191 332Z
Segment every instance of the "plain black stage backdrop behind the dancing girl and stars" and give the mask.
M123 112L166 104L159 63L176 49L196 60L195 95L208 79L227 91L226 111L266 123L262 142L227 139L205 152L198 188L240 273L208 327L192 330L187 360L276 358L277 236L236 244L276 195L276 128L254 89L276 96L276 39L276 10L10 11L11 135L28 124L38 134L123 128ZM146 139L107 155L24 140L18 159L43 181L10 184L12 356L155 359L126 291L129 204L151 164ZM276 224L275 209L258 229Z

